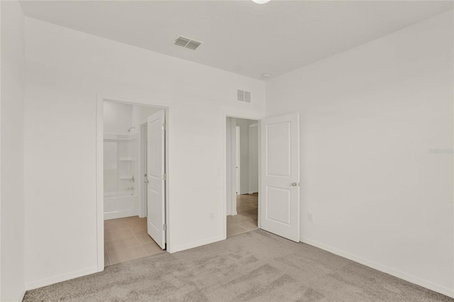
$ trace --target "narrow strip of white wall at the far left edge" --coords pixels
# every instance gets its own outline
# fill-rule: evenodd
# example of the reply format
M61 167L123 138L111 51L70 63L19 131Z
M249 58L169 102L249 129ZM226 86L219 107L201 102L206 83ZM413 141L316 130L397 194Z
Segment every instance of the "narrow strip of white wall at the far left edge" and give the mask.
M21 301L25 293L24 23L18 1L1 1L1 301Z

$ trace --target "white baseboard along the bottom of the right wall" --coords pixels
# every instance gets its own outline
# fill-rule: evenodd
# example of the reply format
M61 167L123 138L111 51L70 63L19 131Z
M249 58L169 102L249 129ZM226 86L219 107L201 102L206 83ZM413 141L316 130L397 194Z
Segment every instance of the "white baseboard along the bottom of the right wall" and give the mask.
M401 272L397 269L393 269L392 267L387 267L386 265L373 262L368 259L364 259L362 257L358 257L356 255L350 254L349 252L345 252L343 250L338 250L336 247L331 247L329 245L325 245L321 242L316 242L314 240L310 240L304 237L299 238L301 242L304 242L308 245L313 245L314 247L319 247L321 250L326 250L328 252L332 252L335 255L350 259L354 262L358 262L360 264L364 264L367 267L372 267L372 269L377 269L380 272L384 272L386 274L390 274L392 276L395 276L399 279L403 279L405 281L409 281L413 284L423 286L426 289L430 289L431 291L436 291L437 293L442 293L445 296L454 298L454 289L450 289L446 286L442 286L440 284L434 284L431 281L421 279L417 276L413 276L411 274L407 274L405 272Z

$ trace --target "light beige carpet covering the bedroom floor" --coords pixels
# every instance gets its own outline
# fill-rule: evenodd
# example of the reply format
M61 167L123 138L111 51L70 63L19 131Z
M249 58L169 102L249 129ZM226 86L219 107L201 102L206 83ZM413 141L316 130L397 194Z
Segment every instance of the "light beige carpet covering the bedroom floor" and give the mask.
M254 230L106 267L23 301L454 301L303 243Z

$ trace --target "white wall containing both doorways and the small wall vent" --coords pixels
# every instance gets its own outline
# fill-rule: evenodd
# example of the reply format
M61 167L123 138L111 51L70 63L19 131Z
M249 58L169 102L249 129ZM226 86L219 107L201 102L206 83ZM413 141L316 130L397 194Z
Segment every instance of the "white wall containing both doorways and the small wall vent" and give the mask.
M31 18L26 68L29 289L96 271L96 94L170 107L171 252L225 237L225 116L264 116L264 82Z

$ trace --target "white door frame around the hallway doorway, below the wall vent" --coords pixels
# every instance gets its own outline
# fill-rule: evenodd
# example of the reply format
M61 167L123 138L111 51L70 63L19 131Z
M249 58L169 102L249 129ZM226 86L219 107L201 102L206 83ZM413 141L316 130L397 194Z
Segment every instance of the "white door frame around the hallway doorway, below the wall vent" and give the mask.
M223 113L223 120L222 120L222 125L223 125L223 157L222 157L222 162L223 162L223 165L222 165L222 171L223 171L223 203L222 203L222 226L223 226L223 239L227 239L227 118L243 118L245 120L252 120L252 121L257 121L257 126L258 126L258 131L260 133L260 120L262 118L265 118L265 116L255 116L255 115L238 115L236 113L228 113L228 112L224 112ZM259 165L258 165L258 213L260 213L260 204L261 204L261 196L262 194L260 194L262 191L261 191L261 183L262 183L262 177L261 177L261 174L262 174L262 167L260 162L261 161L261 158L262 158L262 155L261 155L261 145L262 145L262 142L260 140L260 135L258 135L258 162L259 162ZM258 225L258 228L260 228L260 215L258 215L258 218L257 218L257 225Z

